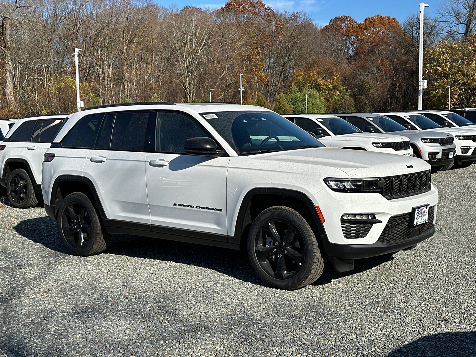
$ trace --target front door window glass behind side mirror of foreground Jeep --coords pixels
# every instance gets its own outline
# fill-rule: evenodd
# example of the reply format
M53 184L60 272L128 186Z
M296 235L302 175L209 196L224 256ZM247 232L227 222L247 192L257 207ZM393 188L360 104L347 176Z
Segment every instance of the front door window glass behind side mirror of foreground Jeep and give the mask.
M197 137L213 139L198 123L183 114L159 112L157 115L155 151L185 154L185 140Z

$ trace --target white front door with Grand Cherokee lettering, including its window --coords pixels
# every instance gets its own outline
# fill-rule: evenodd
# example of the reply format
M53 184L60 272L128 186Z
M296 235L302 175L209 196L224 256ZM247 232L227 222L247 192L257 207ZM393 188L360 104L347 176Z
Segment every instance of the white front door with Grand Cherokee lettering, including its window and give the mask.
M173 227L212 233L208 239L227 241L229 157L186 155L185 140L196 137L211 138L196 119L158 113L155 147L146 158L152 231L160 231L157 226Z

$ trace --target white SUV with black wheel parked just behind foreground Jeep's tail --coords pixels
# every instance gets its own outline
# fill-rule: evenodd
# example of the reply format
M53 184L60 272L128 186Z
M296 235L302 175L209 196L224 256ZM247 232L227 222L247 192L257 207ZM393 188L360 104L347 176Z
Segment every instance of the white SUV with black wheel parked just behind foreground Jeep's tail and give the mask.
M18 119L0 145L0 184L15 208L38 204L41 196L41 163L66 114Z

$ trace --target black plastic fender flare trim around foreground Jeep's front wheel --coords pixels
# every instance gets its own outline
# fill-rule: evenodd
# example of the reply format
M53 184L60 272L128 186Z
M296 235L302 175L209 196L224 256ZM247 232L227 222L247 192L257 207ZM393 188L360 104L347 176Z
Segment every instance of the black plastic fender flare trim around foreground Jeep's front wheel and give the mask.
M293 198L298 198L303 201L309 211L311 212L313 222L315 227L317 228L320 238L322 241L327 241L327 234L322 222L317 214L316 207L313 204L312 200L302 192L295 191L292 189L286 188L253 188L245 195L243 200L241 201L240 208L238 210L237 221L235 225L235 233L233 236L228 236L228 243L233 244L240 244L241 243L241 236L243 234L243 229L245 226L251 222L251 218L249 217L249 206L251 204L251 198L255 195L260 194L268 194L268 195L279 195L279 196L288 196Z

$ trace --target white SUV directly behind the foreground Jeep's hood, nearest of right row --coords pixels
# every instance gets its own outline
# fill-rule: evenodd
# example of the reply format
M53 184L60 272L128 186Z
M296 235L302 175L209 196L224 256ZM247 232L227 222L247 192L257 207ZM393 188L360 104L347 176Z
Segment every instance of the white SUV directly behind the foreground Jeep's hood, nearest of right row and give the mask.
M283 115L327 147L386 152L412 156L410 140L401 135L364 133L342 118L330 114Z

